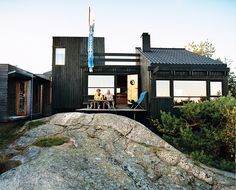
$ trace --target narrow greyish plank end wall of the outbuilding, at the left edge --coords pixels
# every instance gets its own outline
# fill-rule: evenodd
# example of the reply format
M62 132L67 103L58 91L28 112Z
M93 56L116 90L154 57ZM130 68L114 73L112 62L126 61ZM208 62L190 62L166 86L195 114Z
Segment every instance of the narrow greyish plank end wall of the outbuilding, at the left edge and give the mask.
M8 65L0 64L0 120L7 118Z

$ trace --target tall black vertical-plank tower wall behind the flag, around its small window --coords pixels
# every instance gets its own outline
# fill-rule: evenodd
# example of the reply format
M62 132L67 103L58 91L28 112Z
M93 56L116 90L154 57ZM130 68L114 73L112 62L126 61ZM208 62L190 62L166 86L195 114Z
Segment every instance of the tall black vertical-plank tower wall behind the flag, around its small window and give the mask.
M55 112L80 108L83 101L83 55L87 37L53 37L52 99ZM65 48L65 65L55 65L55 48ZM94 53L104 53L104 38L94 38Z

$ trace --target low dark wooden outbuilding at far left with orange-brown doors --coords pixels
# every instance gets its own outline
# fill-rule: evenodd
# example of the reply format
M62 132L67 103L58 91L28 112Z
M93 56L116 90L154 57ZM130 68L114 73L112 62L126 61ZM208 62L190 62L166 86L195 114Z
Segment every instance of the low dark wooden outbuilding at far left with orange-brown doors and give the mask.
M0 121L51 114L51 81L9 64L0 64Z

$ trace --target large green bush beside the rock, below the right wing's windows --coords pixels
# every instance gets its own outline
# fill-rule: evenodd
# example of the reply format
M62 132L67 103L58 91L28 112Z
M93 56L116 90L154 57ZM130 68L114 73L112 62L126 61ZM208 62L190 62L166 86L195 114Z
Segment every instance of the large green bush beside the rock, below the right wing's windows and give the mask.
M235 171L236 99L231 95L211 101L188 103L181 117L161 113L152 124L162 137L195 160Z

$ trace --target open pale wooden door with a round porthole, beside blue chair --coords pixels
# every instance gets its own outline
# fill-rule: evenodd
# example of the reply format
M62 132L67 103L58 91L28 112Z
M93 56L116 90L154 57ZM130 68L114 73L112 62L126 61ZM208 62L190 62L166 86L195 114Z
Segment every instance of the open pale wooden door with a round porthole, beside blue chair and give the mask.
M127 77L128 100L138 100L138 75L128 75ZM129 102L128 102L129 103Z

